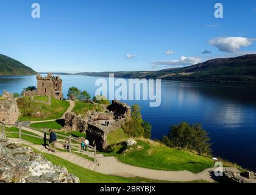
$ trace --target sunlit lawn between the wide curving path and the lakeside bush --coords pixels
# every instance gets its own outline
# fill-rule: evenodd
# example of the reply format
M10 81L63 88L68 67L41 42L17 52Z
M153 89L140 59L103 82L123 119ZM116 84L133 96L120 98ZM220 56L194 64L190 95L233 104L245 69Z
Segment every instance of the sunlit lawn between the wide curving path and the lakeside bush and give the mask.
M136 146L128 147L129 151L125 149L126 146L119 144L104 155L115 156L129 165L166 171L187 170L197 173L213 166L211 158L148 141L137 141Z

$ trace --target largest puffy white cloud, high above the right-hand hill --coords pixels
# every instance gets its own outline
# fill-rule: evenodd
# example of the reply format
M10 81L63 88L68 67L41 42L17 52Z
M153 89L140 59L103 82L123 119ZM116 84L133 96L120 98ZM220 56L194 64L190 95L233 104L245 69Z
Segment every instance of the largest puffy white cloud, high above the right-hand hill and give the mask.
M238 51L241 47L247 47L252 44L254 39L245 37L218 37L209 41L210 44L219 49L219 51L232 53Z

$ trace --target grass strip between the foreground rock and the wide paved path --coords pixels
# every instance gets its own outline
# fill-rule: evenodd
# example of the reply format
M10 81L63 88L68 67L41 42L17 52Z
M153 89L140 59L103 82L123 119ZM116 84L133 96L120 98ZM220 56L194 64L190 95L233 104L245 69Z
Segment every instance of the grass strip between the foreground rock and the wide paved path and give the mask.
M56 157L51 154L39 152L34 149L38 154L42 154L47 160L51 161L54 165L64 166L68 169L68 172L79 177L81 183L165 183L161 180L144 179L140 177L126 178L119 176L110 176L101 174L99 172L91 171L89 169L82 168L81 166L70 163L69 161L63 160L60 157ZM202 180L197 180L190 183L201 183Z

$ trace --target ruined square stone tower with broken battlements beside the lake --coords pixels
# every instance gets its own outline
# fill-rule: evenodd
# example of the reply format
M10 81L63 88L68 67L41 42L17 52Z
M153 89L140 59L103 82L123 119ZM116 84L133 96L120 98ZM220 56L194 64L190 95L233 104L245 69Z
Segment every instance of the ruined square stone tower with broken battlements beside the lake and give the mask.
M63 99L62 79L60 79L60 76L54 77L49 73L48 76L41 77L40 74L37 74L37 94Z

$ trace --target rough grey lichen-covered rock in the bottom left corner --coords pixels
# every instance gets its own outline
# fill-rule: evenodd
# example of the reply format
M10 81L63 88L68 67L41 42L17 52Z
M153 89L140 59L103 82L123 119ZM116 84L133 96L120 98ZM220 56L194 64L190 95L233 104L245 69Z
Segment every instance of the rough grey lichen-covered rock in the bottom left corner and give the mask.
M66 168L53 165L30 147L0 135L0 183L78 183Z

